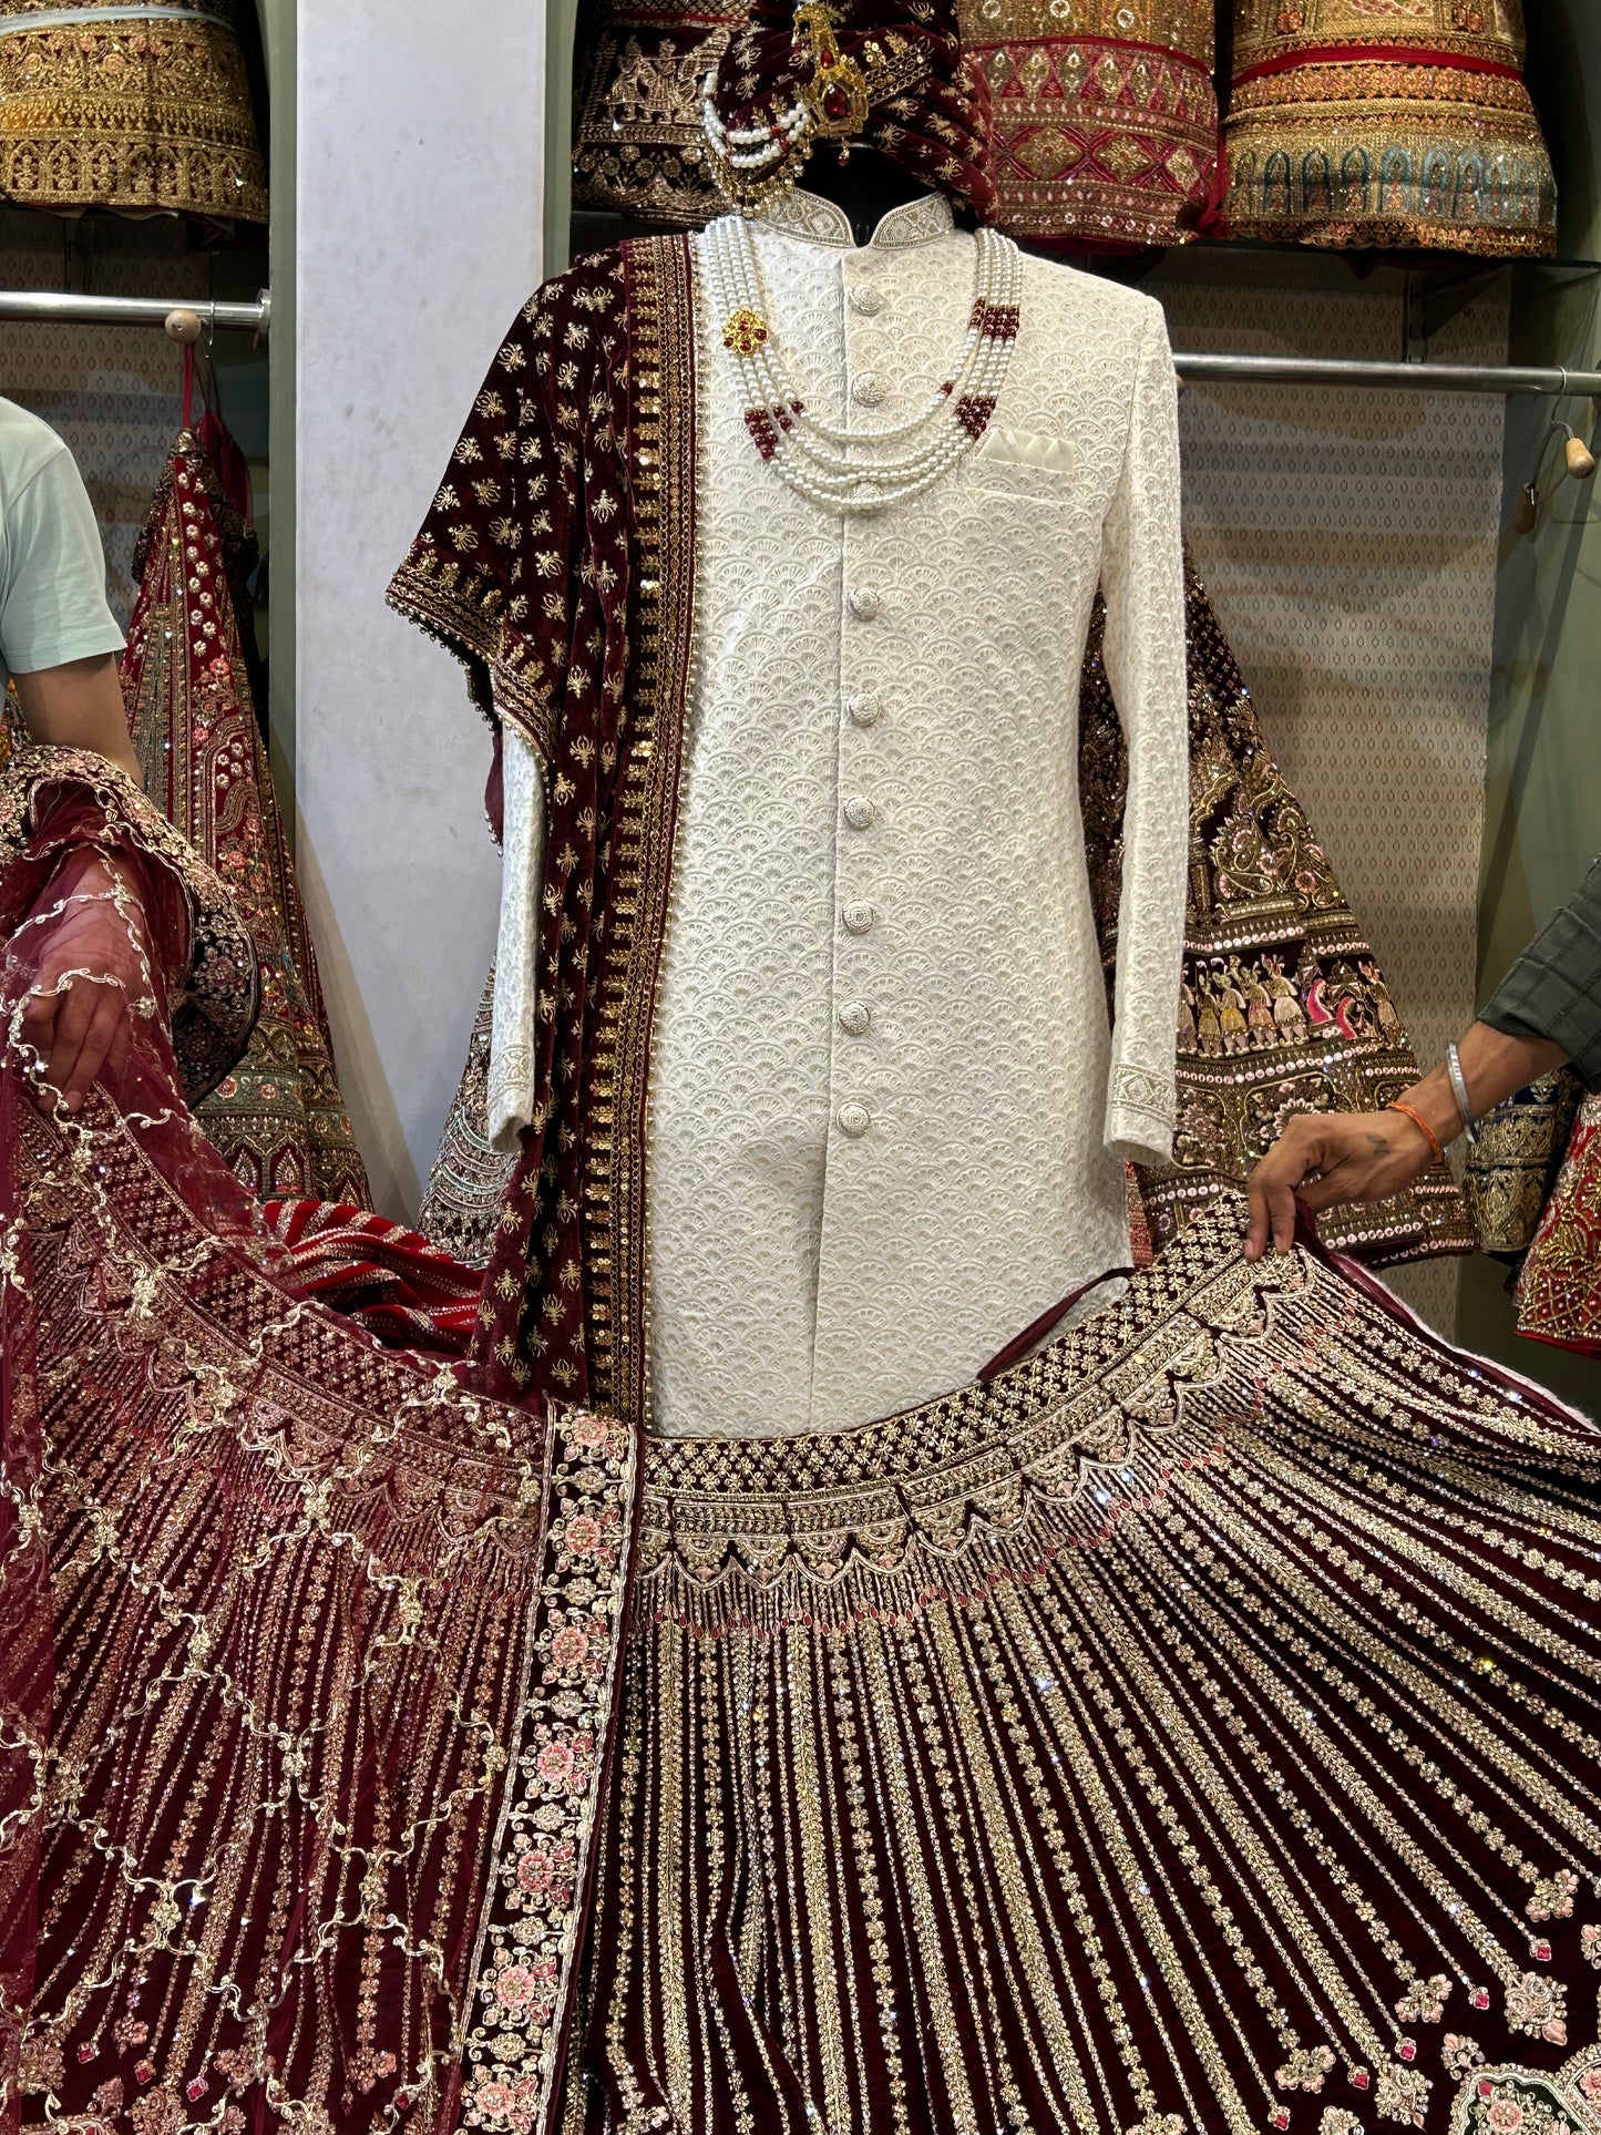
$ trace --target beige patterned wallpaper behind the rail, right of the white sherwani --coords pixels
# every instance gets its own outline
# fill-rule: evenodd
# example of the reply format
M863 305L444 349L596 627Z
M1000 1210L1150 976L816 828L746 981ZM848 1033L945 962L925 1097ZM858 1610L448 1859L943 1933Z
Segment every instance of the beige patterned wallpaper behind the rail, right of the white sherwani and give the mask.
M1402 354L1402 275L1170 254L1144 284L1174 346ZM1505 361L1507 297L1434 361ZM1328 386L1187 386L1185 523L1257 700L1383 959L1420 1057L1473 1018L1505 404ZM1456 1262L1392 1277L1454 1330Z

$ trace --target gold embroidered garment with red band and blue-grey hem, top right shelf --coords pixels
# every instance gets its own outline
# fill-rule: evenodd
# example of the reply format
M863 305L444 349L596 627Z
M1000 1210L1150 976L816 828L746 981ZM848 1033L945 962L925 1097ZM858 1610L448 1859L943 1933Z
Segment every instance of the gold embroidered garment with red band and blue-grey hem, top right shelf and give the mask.
M1234 237L1550 254L1520 0L1236 0Z

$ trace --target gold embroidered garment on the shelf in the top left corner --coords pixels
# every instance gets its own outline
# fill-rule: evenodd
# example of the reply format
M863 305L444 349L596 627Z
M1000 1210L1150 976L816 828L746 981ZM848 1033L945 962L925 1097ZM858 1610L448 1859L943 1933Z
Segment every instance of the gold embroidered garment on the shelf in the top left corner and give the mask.
M0 0L0 199L265 222L235 0Z

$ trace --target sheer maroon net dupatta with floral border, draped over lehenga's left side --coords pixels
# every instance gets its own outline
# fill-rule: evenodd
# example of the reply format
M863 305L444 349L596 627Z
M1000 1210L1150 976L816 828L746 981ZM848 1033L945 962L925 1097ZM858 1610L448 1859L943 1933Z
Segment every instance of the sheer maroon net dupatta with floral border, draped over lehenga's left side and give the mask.
M66 1117L21 1014L107 922L75 903L98 856L139 1014ZM102 760L0 784L0 2120L536 2135L632 1441L297 1287L179 1087L248 1035L245 937Z

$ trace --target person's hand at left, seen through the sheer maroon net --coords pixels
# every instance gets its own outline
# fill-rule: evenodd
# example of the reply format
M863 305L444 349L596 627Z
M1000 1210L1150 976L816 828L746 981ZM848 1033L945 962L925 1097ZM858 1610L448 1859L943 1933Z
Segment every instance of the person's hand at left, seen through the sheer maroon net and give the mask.
M77 1112L102 1068L120 1072L134 1014L149 1014L149 967L139 901L105 860L73 869L70 886L47 892L45 944L21 1006L17 1035L43 1061L41 1085Z

